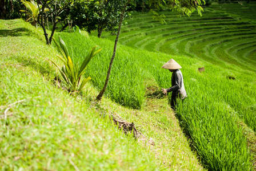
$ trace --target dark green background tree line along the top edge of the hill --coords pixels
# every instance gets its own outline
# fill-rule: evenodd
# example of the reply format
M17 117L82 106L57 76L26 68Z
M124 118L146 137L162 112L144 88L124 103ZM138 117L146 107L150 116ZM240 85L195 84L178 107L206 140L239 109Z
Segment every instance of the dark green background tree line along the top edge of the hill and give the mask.
M32 1L32 0L31 0ZM256 0L247 0L247 2L256 1ZM30 1L29 1L30 2ZM35 1L39 2L39 0ZM41 1L43 2L43 1ZM47 1L49 3L56 2L57 4L63 5L63 2L68 1ZM58 15L58 21L62 25L62 31L68 25L67 21L73 21L73 26L77 25L80 28L85 29L86 31L90 32L92 30L98 30L98 36L101 36L102 30L106 31L113 31L116 32L118 23L118 19L121 14L122 5L125 1L116 1L116 0L97 0L97 1L71 1L69 6L66 6L66 9L62 11ZM171 3L172 1L166 1ZM235 0L205 0L205 5L211 5L213 2L218 3L238 3ZM163 1L161 2L163 3ZM68 3L67 3L68 4ZM131 1L127 10L128 11L138 11L143 14L145 11L150 10L161 10L160 8L155 7L159 4L158 0L151 1L151 0L134 0ZM204 5L204 4L202 4ZM63 6L60 6L63 7ZM15 19L15 18L24 18L27 19L26 15L21 12L21 10L26 10L26 7L20 0L0 0L0 19ZM130 14L126 13L124 18L129 17ZM48 21L53 23L53 15L49 14L47 16Z

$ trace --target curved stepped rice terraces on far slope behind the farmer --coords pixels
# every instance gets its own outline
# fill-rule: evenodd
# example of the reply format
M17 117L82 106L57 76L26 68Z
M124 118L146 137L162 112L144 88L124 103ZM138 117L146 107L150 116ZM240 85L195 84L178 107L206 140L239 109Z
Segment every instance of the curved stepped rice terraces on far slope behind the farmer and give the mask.
M119 41L126 46L172 55L188 55L219 66L230 64L255 71L256 3L211 5L203 16L177 17L161 12L166 24L151 14L135 13L122 27ZM105 38L114 39L110 34Z

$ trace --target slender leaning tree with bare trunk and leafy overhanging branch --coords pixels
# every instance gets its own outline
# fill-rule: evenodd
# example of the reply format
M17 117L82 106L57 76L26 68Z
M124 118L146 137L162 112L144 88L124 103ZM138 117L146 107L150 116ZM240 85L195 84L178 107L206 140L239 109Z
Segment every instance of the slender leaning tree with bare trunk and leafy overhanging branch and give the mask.
M96 97L96 100L101 100L102 99L102 96L106 91L107 84L109 83L110 72L111 72L111 68L112 68L112 65L113 65L114 58L115 58L115 53L116 53L116 50L117 50L117 42L118 42L119 34L120 34L120 31L121 31L123 16L125 15L126 7L129 5L130 1L131 0L126 0L125 4L123 5L122 14L121 14L121 17L119 19L119 27L118 27L118 31L117 31L117 36L115 38L114 51L113 51L112 58L110 59L109 69L107 70L107 76L106 76L105 84L104 84L101 92L99 92L99 95ZM179 13L181 13L183 15L186 14L186 15L189 15L189 16L195 10L198 11L199 15L202 15L201 11L203 10L202 7L200 6L200 5L202 5L201 0L182 0L182 1L178 1L178 0L176 0L176 1L175 0L169 0L169 1L148 0L146 3L149 6L154 5L158 9L167 7L171 10L176 10L176 11L178 11Z

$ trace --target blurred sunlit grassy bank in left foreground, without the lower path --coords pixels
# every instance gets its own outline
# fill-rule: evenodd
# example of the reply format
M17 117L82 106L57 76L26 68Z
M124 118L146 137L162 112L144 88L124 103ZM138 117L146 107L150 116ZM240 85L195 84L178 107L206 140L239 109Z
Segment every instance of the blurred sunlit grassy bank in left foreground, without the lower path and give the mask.
M1 21L0 31L1 169L158 168L153 154L102 119L89 101L53 86L56 71L47 59L57 59L57 51L29 34L35 28Z

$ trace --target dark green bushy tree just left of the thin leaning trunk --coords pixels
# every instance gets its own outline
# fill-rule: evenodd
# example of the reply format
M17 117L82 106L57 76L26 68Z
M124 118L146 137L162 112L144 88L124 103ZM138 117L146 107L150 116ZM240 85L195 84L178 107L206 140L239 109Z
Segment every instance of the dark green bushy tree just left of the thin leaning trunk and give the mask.
M88 32L97 30L100 38L103 30L117 31L116 26L125 2L125 0L75 2L71 6L70 19L73 20L74 25L86 28ZM125 14L124 18L127 16L128 14Z

